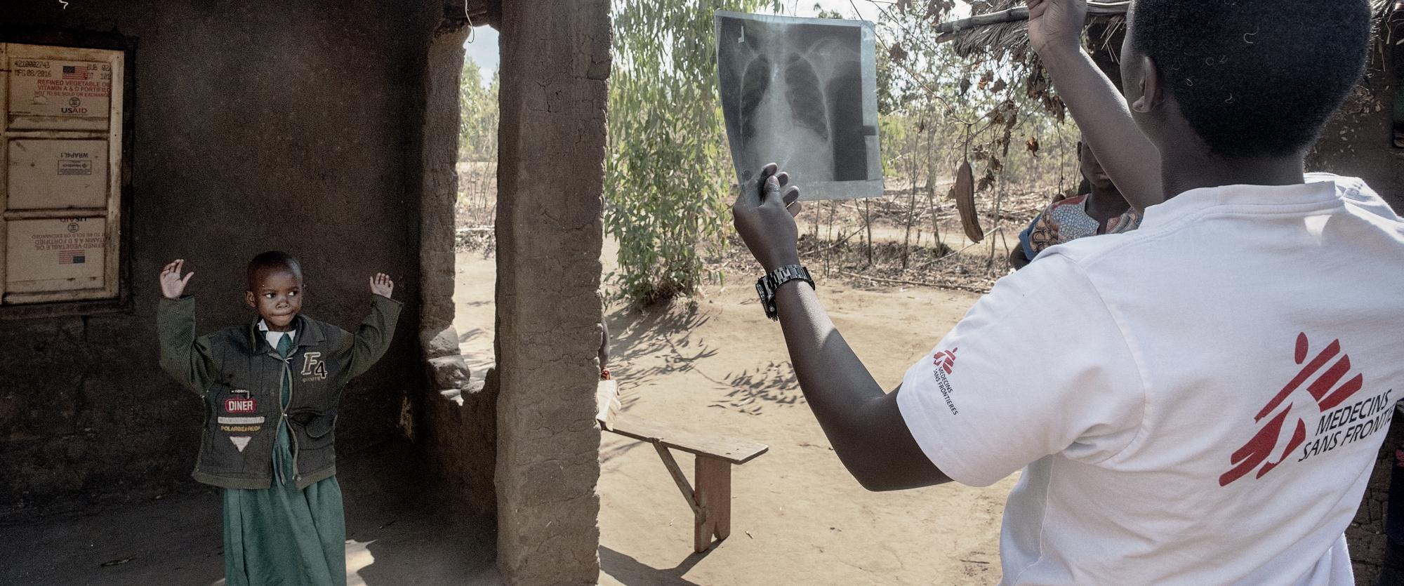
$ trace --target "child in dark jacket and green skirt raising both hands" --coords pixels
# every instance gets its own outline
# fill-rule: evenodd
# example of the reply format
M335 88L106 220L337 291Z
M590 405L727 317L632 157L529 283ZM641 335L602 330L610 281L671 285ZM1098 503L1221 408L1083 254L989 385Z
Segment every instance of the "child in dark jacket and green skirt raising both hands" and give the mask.
M161 271L161 369L204 400L194 477L225 489L229 586L345 585L345 517L336 478L341 387L390 343L395 282L371 278L371 315L355 334L302 314L302 265L270 251L249 262L256 321L195 335L195 275Z

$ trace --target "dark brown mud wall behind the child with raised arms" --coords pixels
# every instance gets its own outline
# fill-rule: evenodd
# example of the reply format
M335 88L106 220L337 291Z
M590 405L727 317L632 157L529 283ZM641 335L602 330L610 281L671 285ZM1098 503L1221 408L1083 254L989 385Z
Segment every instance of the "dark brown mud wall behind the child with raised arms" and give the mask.
M157 367L157 273L195 271L198 331L246 322L243 268L288 250L309 315L354 328L383 271L395 343L345 391L338 451L402 435L417 341L428 1L20 1L0 39L132 49L131 304L0 320L0 522L198 489L201 405ZM102 45L98 45L102 46ZM455 69L456 73L456 69ZM451 222L451 220L449 220Z

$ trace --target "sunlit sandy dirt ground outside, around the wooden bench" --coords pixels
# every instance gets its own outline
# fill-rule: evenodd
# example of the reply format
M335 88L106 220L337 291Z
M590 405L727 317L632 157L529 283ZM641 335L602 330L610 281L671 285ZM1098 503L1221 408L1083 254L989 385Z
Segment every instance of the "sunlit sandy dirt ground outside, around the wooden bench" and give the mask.
M607 272L614 251L607 247ZM459 332L480 376L491 350L491 261L459 255ZM872 493L844 471L795 383L779 327L746 275L651 313L612 307L611 370L625 412L765 443L733 471L731 537L692 554L692 513L654 450L607 433L601 450L602 585L988 585L1000 579L1008 478L984 489ZM858 290L820 282L834 322L885 387L901 381L976 294ZM692 458L677 454L691 477Z

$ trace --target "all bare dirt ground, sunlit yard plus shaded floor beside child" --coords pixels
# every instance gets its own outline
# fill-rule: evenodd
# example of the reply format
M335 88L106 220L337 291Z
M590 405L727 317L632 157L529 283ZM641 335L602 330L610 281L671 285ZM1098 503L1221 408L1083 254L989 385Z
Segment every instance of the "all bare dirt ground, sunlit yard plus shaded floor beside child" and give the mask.
M615 248L604 254L612 271ZM458 255L456 325L482 379L491 364L494 259ZM844 471L804 405L779 327L748 275L692 303L612 307L611 364L628 414L768 444L734 468L731 537L692 554L692 516L649 446L605 435L600 478L602 585L987 585L1014 478L986 489L870 493ZM861 290L820 296L885 387L920 360L976 296ZM872 286L873 283L865 283ZM493 527L416 478L407 446L343 454L350 585L496 585ZM678 454L691 475L692 460ZM93 516L0 527L0 585L222 585L219 495L170 496Z

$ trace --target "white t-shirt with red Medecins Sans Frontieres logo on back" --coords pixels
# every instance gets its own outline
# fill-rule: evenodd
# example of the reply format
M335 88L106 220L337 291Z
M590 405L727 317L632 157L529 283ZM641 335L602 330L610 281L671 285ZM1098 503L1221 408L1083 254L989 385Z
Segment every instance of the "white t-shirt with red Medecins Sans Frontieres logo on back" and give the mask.
M1046 250L897 395L967 485L1024 468L1009 585L1353 585L1404 397L1404 222L1363 182L1195 189Z

